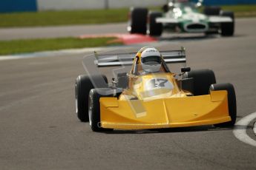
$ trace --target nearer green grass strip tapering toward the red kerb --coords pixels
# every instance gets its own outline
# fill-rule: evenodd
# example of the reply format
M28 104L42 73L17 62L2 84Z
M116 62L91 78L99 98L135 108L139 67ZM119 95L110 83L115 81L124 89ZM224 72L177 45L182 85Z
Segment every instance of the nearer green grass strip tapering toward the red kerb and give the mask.
M116 38L48 38L33 40L0 41L0 55L10 55L25 52L45 50L64 50L85 47L102 47L115 44Z

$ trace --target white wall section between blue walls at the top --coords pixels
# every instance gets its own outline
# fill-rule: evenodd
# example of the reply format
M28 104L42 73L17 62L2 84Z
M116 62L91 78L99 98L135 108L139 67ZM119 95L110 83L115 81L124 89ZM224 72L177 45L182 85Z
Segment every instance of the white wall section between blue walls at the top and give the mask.
M166 3L166 0L37 0L37 5L39 10L103 9L106 1L110 8L148 7Z

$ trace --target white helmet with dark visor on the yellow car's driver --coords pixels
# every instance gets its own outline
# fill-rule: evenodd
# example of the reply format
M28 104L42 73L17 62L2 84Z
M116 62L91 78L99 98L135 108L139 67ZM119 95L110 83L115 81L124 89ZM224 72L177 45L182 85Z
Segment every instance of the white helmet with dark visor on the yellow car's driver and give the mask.
M141 65L144 72L159 72L161 53L155 48L147 48L141 53Z

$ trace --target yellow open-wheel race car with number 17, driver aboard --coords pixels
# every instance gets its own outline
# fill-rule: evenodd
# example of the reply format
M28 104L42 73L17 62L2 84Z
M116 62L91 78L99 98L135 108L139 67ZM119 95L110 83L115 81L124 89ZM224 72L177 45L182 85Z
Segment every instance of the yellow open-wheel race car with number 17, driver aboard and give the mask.
M185 50L97 55L97 67L131 65L113 78L79 75L76 113L94 132L112 129L163 129L186 126L233 126L237 106L234 86L216 84L210 69L171 72L167 63L185 63ZM90 67L88 65L88 67ZM90 72L89 72L90 73Z

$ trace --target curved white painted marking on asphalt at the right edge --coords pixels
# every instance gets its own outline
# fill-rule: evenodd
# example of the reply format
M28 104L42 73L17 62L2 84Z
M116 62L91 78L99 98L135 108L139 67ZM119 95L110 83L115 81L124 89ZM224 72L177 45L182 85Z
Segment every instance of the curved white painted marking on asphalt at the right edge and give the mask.
M255 118L256 118L256 112L239 120L237 123L235 123L235 128L233 130L233 133L234 133L234 136L237 137L237 139L239 139L240 141L256 147L256 141L246 134L246 129L249 123L251 123L252 120L254 120ZM254 131L256 131L255 127L254 127Z

